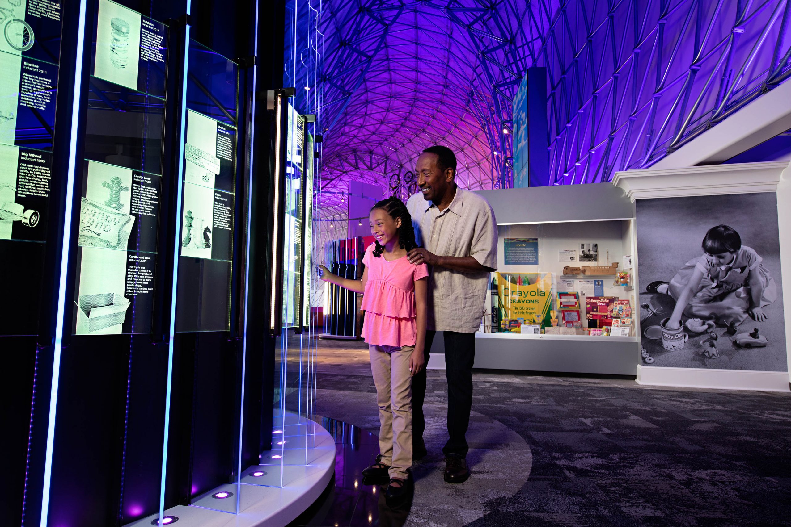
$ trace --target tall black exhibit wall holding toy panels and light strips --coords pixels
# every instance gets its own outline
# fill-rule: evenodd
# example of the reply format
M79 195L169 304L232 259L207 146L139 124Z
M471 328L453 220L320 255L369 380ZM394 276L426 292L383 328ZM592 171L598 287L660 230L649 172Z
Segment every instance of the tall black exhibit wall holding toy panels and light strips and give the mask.
M0 42L0 96L13 99L0 107L0 276L13 299L0 349L17 378L2 389L15 402L2 414L0 516L127 525L229 481L240 461L229 408L240 407L245 307L267 314L265 280L245 284L244 272L248 258L265 271L271 247L265 93L282 87L285 13L282 2L263 13L201 1L184 17L185 2L87 0L81 27L79 9L46 5L14 13L28 24L21 49ZM251 200L261 227L248 255ZM244 465L271 434L271 339L251 334Z

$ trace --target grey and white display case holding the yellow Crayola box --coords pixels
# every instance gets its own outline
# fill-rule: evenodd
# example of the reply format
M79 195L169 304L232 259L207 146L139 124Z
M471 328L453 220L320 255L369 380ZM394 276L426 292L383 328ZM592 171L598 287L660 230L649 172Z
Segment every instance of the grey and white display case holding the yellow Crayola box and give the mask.
M615 285L615 271L610 274L564 274L566 266L611 267L617 262L617 270L634 276L634 206L623 190L609 183L595 183L483 190L478 194L490 202L498 220L498 273L501 279L510 275L510 283L522 278L524 281L519 280L520 286L537 280L539 288L546 291L550 280L548 275L551 275L552 311L557 311L558 292L587 294L579 295L581 327L574 330L574 334L490 333L490 328L486 327L489 325L484 325L484 331L475 334L475 367L636 375L640 344L636 336L639 334L639 321L635 315L639 308L638 295L632 284ZM517 242L510 241L511 247L506 254L506 239L527 241L532 247L517 251L514 248ZM581 244L585 245L581 247ZM597 261L580 262L581 249L589 254L593 244L596 244ZM573 261L562 261L573 255L572 252L576 252ZM596 284L596 280L600 283ZM585 299L591 296L589 288L594 288L593 296L630 301L633 322L628 337L586 334L585 328L589 325L604 322L589 322L586 318ZM486 314L490 317L491 299L486 301ZM517 318L508 314L505 317ZM558 322L562 325L560 316L554 326L550 318L547 316L547 320L541 321L544 322L544 330L557 327ZM486 318L484 322L488 322ZM516 327L514 330L519 331ZM438 333L431 350L430 368L445 366L443 341L441 333Z

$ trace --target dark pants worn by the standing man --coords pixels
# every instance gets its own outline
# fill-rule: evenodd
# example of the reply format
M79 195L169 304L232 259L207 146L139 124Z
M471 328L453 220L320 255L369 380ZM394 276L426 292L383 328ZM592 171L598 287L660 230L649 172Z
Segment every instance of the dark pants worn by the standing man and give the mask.
M426 331L426 365L436 331ZM467 457L467 427L472 408L472 363L475 362L475 333L445 331L445 375L448 378L448 435L442 453ZM412 434L419 444L426 430L423 401L426 399L426 371L412 378Z

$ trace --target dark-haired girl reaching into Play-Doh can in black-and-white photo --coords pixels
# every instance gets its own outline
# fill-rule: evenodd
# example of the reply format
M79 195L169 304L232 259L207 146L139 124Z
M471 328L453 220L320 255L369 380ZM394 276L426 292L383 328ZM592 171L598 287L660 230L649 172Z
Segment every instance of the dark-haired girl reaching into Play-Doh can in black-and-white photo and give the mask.
M739 233L728 225L710 228L702 248L705 256L687 262L669 284L656 281L648 286L648 292L676 299L668 329L681 326L682 314L726 326L741 324L748 314L756 322L766 320L763 307L778 298L778 291L761 265L763 258L743 247Z

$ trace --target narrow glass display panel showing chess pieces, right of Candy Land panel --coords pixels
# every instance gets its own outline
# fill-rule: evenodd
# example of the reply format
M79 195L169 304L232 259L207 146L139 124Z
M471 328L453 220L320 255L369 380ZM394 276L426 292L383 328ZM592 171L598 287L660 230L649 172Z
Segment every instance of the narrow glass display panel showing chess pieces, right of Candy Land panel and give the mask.
M233 61L190 41L177 332L230 327L238 75Z

